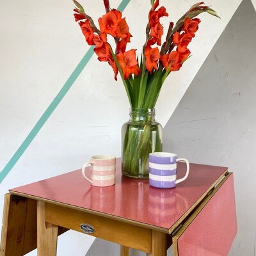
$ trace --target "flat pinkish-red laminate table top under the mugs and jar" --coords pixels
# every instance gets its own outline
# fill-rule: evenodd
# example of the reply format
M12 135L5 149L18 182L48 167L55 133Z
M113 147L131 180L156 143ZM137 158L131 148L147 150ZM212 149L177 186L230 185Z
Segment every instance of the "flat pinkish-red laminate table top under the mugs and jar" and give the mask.
M178 163L177 168L179 179L186 172L186 164ZM87 172L90 173L89 168ZM168 232L177 220L198 204L198 200L225 172L227 167L190 164L188 179L177 184L176 188L158 189L149 186L148 180L123 177L120 159L117 159L114 186L93 187L83 178L81 170L76 170L10 189L10 193L79 207L81 211L155 226Z

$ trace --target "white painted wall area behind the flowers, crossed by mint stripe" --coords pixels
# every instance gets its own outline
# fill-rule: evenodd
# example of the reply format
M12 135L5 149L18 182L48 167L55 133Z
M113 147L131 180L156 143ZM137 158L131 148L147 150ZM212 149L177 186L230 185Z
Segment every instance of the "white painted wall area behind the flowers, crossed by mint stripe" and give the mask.
M131 0L124 11L130 26L131 47L140 48L145 38L145 0ZM161 1L170 17L177 20L196 1ZM221 16L201 16L200 31L191 44L193 57L179 72L171 74L157 103L157 120L165 125L198 69L232 17L241 0L207 1ZM104 13L102 1L83 0L97 20ZM100 3L100 4L99 4ZM111 1L113 8L120 1ZM76 68L88 46L72 17L72 1L5 1L0 5L0 170L52 102ZM136 17L136 19L134 19ZM140 26L139 26L140 25ZM81 168L93 154L120 156L120 127L127 120L129 103L120 79L96 57L44 127L29 145L0 186L0 214L3 196L9 188ZM0 215L1 218L1 215ZM84 255L92 238L70 232L60 237L58 255ZM35 255L35 253L31 253Z

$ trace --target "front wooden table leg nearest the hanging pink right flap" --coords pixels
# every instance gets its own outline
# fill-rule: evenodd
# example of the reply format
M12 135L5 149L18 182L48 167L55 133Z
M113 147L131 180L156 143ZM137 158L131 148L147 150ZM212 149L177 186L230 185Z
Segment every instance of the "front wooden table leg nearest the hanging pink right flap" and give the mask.
M166 234L152 230L152 256L167 255L167 236Z

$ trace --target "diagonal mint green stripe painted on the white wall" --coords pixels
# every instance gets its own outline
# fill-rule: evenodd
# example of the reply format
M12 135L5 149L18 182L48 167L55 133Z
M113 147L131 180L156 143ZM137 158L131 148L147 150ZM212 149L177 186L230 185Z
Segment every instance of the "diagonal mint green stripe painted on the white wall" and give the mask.
M124 11L126 8L127 4L129 4L131 0L122 0L120 5L118 6L118 10L121 12ZM88 61L90 58L92 58L93 55L93 47L90 47L90 49L86 52L84 55L83 59L79 62L75 70L72 72L70 77L68 77L67 82L63 85L61 88L60 92L56 95L54 100L52 100L51 104L49 107L45 110L44 114L40 117L36 125L33 127L31 132L29 132L28 136L26 139L22 142L20 147L17 149L15 154L12 156L10 161L6 164L6 166L3 168L2 172L0 173L0 183L4 180L6 175L12 170L13 166L17 163L17 161L20 159L22 154L25 152L25 150L28 148L30 143L34 140L36 134L40 131L40 129L43 127L47 119L51 116L52 112L54 109L57 108L58 104L61 102L63 97L67 94L68 90L71 88L71 86L74 84L76 81L77 77L81 74L83 68L87 65Z

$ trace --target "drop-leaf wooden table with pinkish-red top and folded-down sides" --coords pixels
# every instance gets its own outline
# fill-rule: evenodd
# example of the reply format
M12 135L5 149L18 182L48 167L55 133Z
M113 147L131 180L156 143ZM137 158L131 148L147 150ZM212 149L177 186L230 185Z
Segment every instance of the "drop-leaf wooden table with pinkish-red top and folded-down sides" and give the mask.
M129 248L166 256L172 243L175 255L227 255L237 230L227 168L191 164L187 180L157 189L148 180L122 177L120 165L118 159L116 184L107 188L91 186L76 170L10 189L0 255L35 248L39 256L56 255L57 237L68 229L118 243L122 256ZM178 164L178 178L185 167Z

